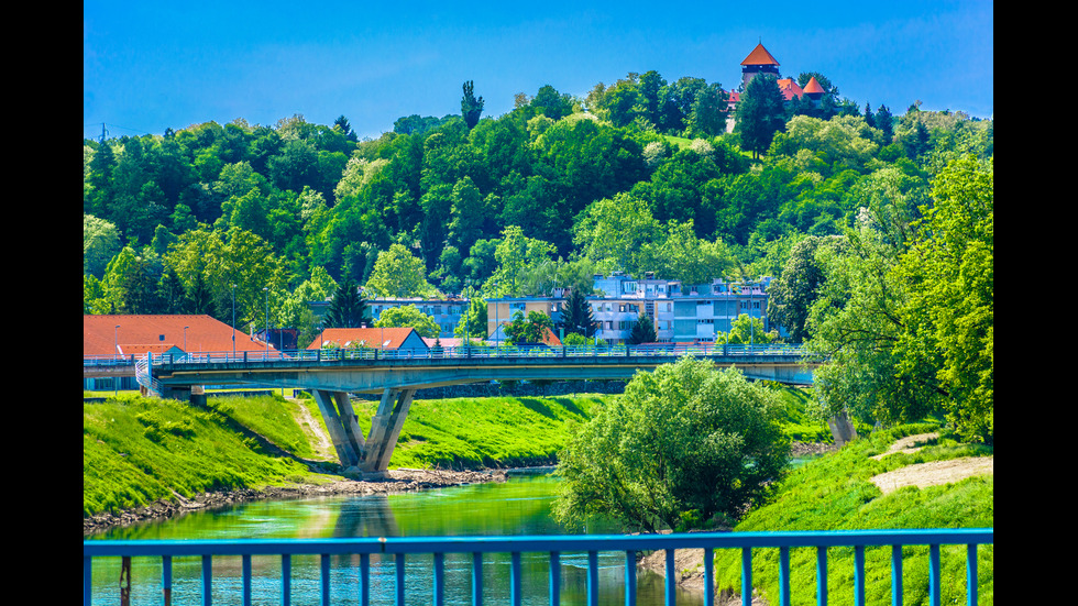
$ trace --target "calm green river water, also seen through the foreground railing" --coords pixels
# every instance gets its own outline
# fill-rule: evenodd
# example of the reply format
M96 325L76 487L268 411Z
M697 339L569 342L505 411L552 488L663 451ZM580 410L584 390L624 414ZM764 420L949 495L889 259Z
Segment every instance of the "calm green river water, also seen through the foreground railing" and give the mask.
M504 484L476 484L419 493L260 502L234 508L189 514L160 524L116 529L94 539L274 539L330 537L421 537L485 535L559 535L564 528L550 517L558 481L541 474L513 475ZM587 532L614 532L612 527ZM280 558L254 558L254 604L280 604ZM525 604L548 603L548 557L522 554ZM584 604L586 554L563 553L562 595L565 605ZM430 557L409 558L408 605L430 602ZM394 561L371 557L371 602L393 604ZM624 604L624 554L600 554L600 603ZM173 604L201 603L200 559L174 559ZM446 603L471 604L471 554L446 555ZM119 604L119 560L95 561L95 604ZM360 598L359 557L332 563L332 603L356 604ZM507 604L509 555L485 554L484 604ZM292 603L318 604L316 558L294 558ZM642 606L662 604L661 576L637 572L637 598ZM213 560L213 603L237 604L240 559ZM680 592L680 606L696 606L702 596ZM161 604L160 561L132 563L132 604Z

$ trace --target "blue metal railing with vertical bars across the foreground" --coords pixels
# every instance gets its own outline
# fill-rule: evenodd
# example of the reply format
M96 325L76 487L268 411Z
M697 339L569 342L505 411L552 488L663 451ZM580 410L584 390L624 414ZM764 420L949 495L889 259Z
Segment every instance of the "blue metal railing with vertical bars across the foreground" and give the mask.
M254 555L279 555L282 558L282 599L290 603L290 562L295 555L318 555L320 558L321 604L330 604L330 557L340 554L360 555L360 579L362 583L361 602L370 603L370 557L387 554L395 560L395 603L405 603L405 559L409 555L430 555L433 558L433 584L430 588L430 603L442 604L444 599L444 554L472 554L472 602L482 604L481 566L484 553L509 553L512 555L509 594L510 603L520 604L521 553L550 554L550 604L560 602L561 566L559 557L566 552L587 553L587 603L598 603L600 552L625 553L625 602L636 603L636 553L641 551L666 550L666 601L674 601L675 577L674 550L704 549L704 601L714 601L713 554L716 549L741 550L743 604L751 604L752 550L761 548L779 549L779 592L780 604L788 606L790 592L790 549L816 549L817 604L827 604L827 548L853 548L855 554L855 603L865 604L865 548L890 547L892 550L891 594L893 604L902 604L902 548L904 546L928 546L930 603L941 604L941 557L943 544L959 544L967 548L966 586L967 604L977 604L977 546L994 543L994 529L927 529L927 530L850 530L850 531L804 531L804 532L700 532L690 535L608 535L608 536L554 536L554 537L442 537L442 538L361 538L361 539L294 539L294 540L187 540L187 541L82 541L82 604L89 606L92 598L92 562L95 558L121 558L130 568L131 558L161 558L163 599L167 604L172 587L172 559L175 557L202 558L202 603L210 604L212 585L212 559L215 557L240 557L242 559L242 603L252 599L252 566ZM129 573L130 574L130 573ZM130 575L129 575L130 579ZM748 588L748 590L746 590ZM233 603L234 601L229 601Z

